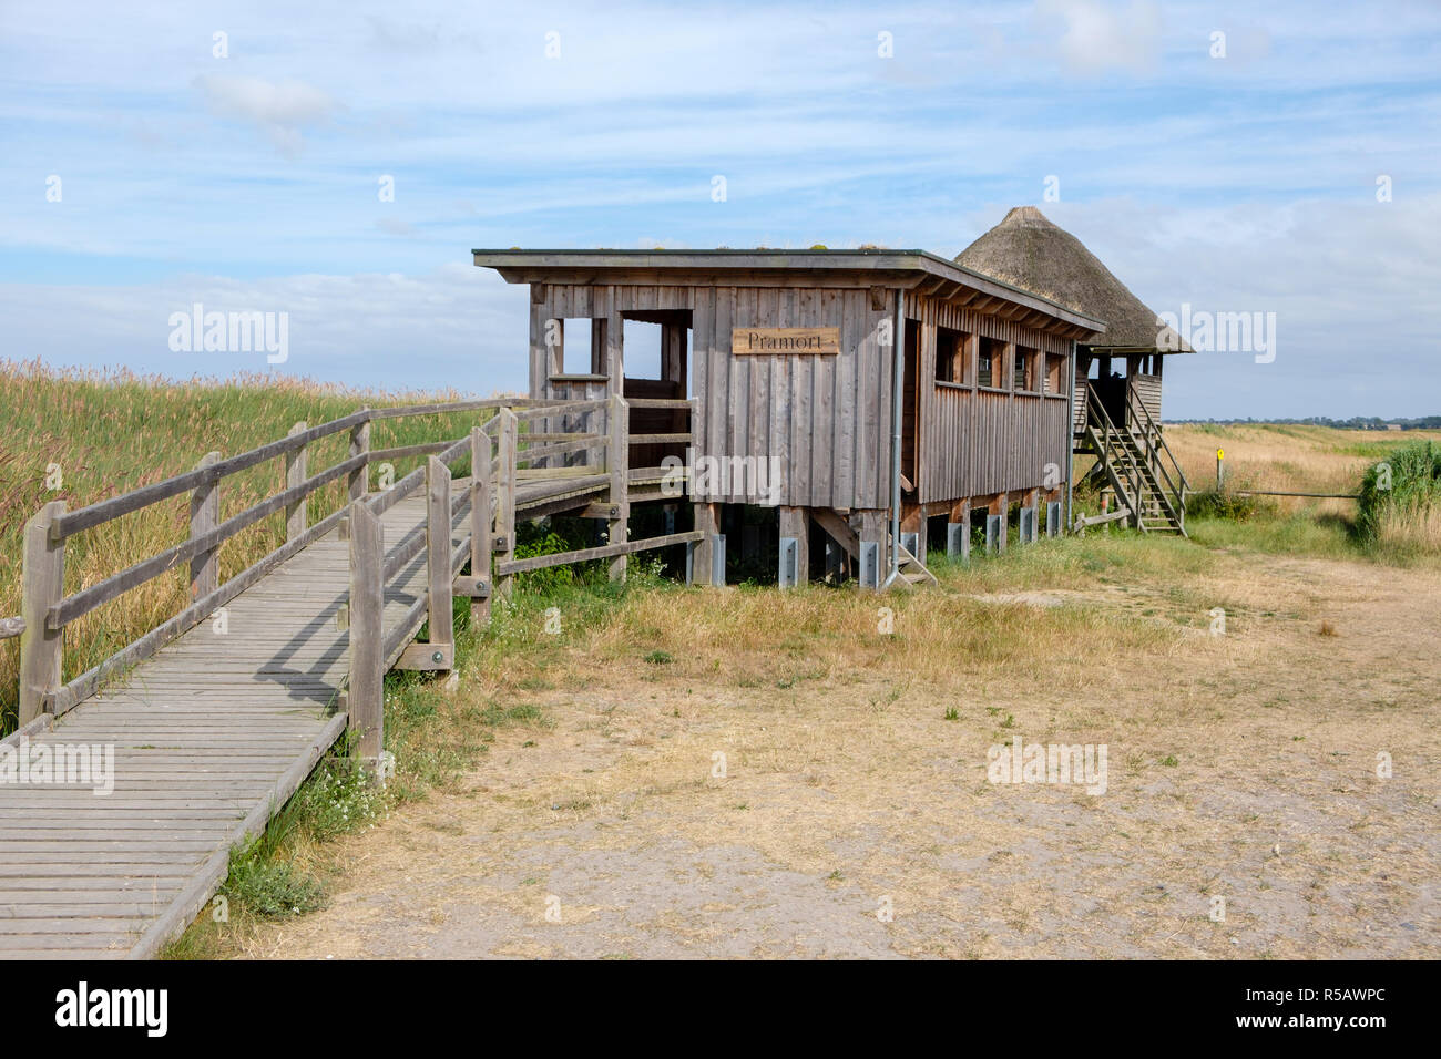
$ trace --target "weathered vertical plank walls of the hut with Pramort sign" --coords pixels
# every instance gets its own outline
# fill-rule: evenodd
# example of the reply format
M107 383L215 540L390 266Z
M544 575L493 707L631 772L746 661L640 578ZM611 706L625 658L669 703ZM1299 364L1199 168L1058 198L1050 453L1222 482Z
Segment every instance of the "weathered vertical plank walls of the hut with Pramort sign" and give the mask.
M550 380L548 318L611 320L631 310L690 310L697 411L696 457L777 457L780 503L800 507L879 509L891 496L892 347L879 329L893 318L895 292L872 308L869 288L548 284L532 305L530 392L594 398L610 383ZM1063 396L991 393L937 386L935 329L1022 343L1068 357L1071 343L999 317L906 295L921 321L918 365L919 500L931 503L1042 484L1046 463L1069 458L1069 405ZM732 356L732 327L839 327L839 356ZM620 336L608 336L614 350ZM615 365L611 363L614 372ZM1063 372L1065 376L1065 372ZM722 494L722 500L742 497Z

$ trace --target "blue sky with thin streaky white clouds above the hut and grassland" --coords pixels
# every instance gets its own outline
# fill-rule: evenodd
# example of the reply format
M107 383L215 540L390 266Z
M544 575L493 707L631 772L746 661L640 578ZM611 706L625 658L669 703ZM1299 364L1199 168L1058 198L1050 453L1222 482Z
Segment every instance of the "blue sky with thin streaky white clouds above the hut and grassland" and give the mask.
M1441 412L1438 3L3 0L0 144L12 359L522 389L473 246L950 256L1030 203L1159 313L1277 314L1169 418ZM288 360L173 352L193 303Z

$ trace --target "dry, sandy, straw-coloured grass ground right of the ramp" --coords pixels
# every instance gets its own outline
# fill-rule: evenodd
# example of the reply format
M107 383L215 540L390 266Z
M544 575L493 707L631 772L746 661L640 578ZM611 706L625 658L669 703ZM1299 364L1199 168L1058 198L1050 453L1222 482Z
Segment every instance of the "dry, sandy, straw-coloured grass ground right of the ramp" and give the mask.
M448 709L529 716L216 951L1435 955L1441 576L1098 535L942 582L523 599ZM989 784L1016 735L1107 743L1108 792Z

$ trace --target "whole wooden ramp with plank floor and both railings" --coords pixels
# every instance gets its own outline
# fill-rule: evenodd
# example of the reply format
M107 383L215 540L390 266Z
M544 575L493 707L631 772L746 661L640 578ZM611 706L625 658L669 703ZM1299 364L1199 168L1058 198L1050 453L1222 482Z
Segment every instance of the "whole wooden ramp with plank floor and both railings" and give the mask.
M628 467L623 399L510 405L301 422L75 511L52 501L29 522L24 614L0 621L0 640L20 637L20 728L0 755L26 762L24 774L0 768L0 957L156 955L225 880L232 847L264 830L344 732L350 756L383 775L385 673L454 667L454 595L484 618L493 578L506 595L519 573L598 558L623 576L628 553L702 536L628 539L633 486L644 494L664 473ZM494 418L467 437L370 447L376 422L487 408ZM549 432L565 415L604 418L605 431ZM307 447L346 431L349 455L310 473ZM572 465L550 465L562 457ZM369 490L372 464L411 458L425 465ZM222 522L222 481L281 460L281 491ZM470 477L451 477L458 461ZM331 484L344 506L307 524L310 497ZM66 595L71 536L174 497L189 497L189 539ZM608 543L517 559L517 522L561 511L604 520ZM280 514L285 543L218 584L220 546ZM184 563L186 609L61 682L68 624ZM427 643L412 643L424 625ZM63 775L42 761L63 761Z

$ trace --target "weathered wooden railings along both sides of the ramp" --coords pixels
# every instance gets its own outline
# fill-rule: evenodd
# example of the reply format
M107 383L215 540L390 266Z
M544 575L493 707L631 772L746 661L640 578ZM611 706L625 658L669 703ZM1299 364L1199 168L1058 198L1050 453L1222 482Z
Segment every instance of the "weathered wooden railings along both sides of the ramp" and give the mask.
M673 403L689 408L686 402ZM481 409L496 414L484 426L476 426L461 438L383 450L370 445L370 429L378 421ZM24 530L23 614L0 622L0 638L20 637L22 729L48 725L55 716L69 712L95 694L107 679L153 656L258 584L280 563L339 530L349 537L350 549L350 669L342 692L343 709L349 715L349 726L359 733L360 756L376 759L382 739L380 689L386 670L447 670L454 666L454 595L468 596L473 615L484 620L491 596L509 596L517 573L610 558L611 575L618 578L624 576L625 556L633 552L680 543L689 548L700 540L700 532L627 539L631 490L635 486L653 487L663 477L661 468L634 470L628 465L631 444L656 439L630 435L628 419L628 403L620 396L363 408L318 426L295 424L287 437L239 455L210 452L192 471L75 511L68 511L63 501L46 504ZM561 429L556 429L558 424ZM346 432L349 450L344 458L311 473L311 442ZM689 439L689 435L664 435L664 439ZM422 455L427 457L424 467L383 491L370 491L372 464ZM272 460L284 461L284 488L222 522L220 483ZM468 463L471 474L457 490L451 467L460 463ZM340 480L346 483L346 506L310 524L310 496ZM388 550L380 517L422 488L424 523ZM69 537L183 494L190 499L190 532L184 542L78 592L65 594L65 542ZM467 510L468 519L464 519ZM517 517L559 510L604 519L610 529L608 542L599 548L516 559ZM220 548L239 532L281 511L285 543L220 584ZM399 621L386 628L386 585L393 584L422 552L425 592L408 605ZM62 683L65 628L182 563L189 563L190 605ZM470 573L461 575L467 563ZM422 627L428 628L427 641L412 643Z

